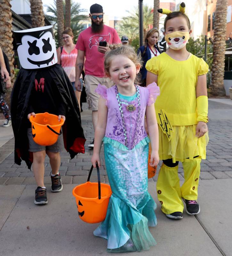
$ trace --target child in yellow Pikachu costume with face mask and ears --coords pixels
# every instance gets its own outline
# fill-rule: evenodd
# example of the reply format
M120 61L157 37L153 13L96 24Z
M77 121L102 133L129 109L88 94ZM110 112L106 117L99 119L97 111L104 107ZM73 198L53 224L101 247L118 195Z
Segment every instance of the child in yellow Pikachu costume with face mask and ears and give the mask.
M167 14L164 29L169 49L146 64L147 85L155 81L160 87L155 108L159 157L163 164L156 188L164 214L171 219L182 219L183 201L188 214L200 212L197 202L200 163L205 159L209 141L208 65L186 50L192 30L184 13L185 4L180 4L180 11L159 9L158 12ZM182 186L178 177L179 161L184 169Z

